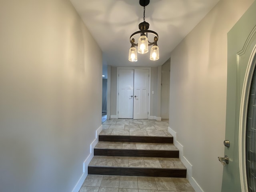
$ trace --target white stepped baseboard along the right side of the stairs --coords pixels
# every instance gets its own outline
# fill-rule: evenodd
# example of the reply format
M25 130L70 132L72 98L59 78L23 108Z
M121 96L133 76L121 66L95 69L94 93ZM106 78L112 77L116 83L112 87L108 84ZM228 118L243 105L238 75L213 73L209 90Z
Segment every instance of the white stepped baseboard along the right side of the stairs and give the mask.
M184 164L184 166L187 168L187 179L194 188L196 192L204 192L200 185L196 182L196 180L193 178L193 166L192 164L186 159L186 157L183 155L183 145L180 144L180 142L177 141L177 133L172 130L172 128L168 127L168 132L172 134L173 136L173 144L178 148L179 150L179 156L181 162Z

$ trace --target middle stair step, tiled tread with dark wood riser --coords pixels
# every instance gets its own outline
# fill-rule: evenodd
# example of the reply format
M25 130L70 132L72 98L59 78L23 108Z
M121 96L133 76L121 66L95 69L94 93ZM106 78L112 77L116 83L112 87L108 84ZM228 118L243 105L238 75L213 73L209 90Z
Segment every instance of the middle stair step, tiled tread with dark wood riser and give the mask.
M178 158L179 151L174 144L99 141L94 155Z

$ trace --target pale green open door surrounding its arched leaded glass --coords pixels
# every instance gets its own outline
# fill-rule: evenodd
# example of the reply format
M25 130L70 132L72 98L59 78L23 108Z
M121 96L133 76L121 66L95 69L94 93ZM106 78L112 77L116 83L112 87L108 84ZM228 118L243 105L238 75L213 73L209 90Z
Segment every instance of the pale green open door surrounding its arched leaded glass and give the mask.
M256 2L228 32L228 76L222 192L247 192L246 121L256 52ZM249 190L250 191L250 190Z

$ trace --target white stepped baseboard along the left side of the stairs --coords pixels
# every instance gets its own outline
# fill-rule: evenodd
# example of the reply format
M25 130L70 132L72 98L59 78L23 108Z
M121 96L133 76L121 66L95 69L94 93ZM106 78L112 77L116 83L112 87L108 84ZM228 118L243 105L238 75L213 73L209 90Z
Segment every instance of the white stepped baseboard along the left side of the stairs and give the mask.
M90 144L90 154L86 157L86 159L84 160L84 163L83 163L83 173L80 176L78 182L76 183L76 186L73 188L72 192L79 192L82 184L84 183L84 180L86 179L86 177L88 175L88 165L94 156L93 149L99 141L99 134L101 131L102 131L102 125L96 130L95 138L92 141L92 143Z

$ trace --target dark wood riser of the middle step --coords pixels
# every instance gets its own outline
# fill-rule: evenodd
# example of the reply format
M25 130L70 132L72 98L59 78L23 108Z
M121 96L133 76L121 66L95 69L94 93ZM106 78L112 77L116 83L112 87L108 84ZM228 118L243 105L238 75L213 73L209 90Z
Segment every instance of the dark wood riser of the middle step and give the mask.
M94 155L95 156L179 158L178 151L166 151L166 150L94 149Z

